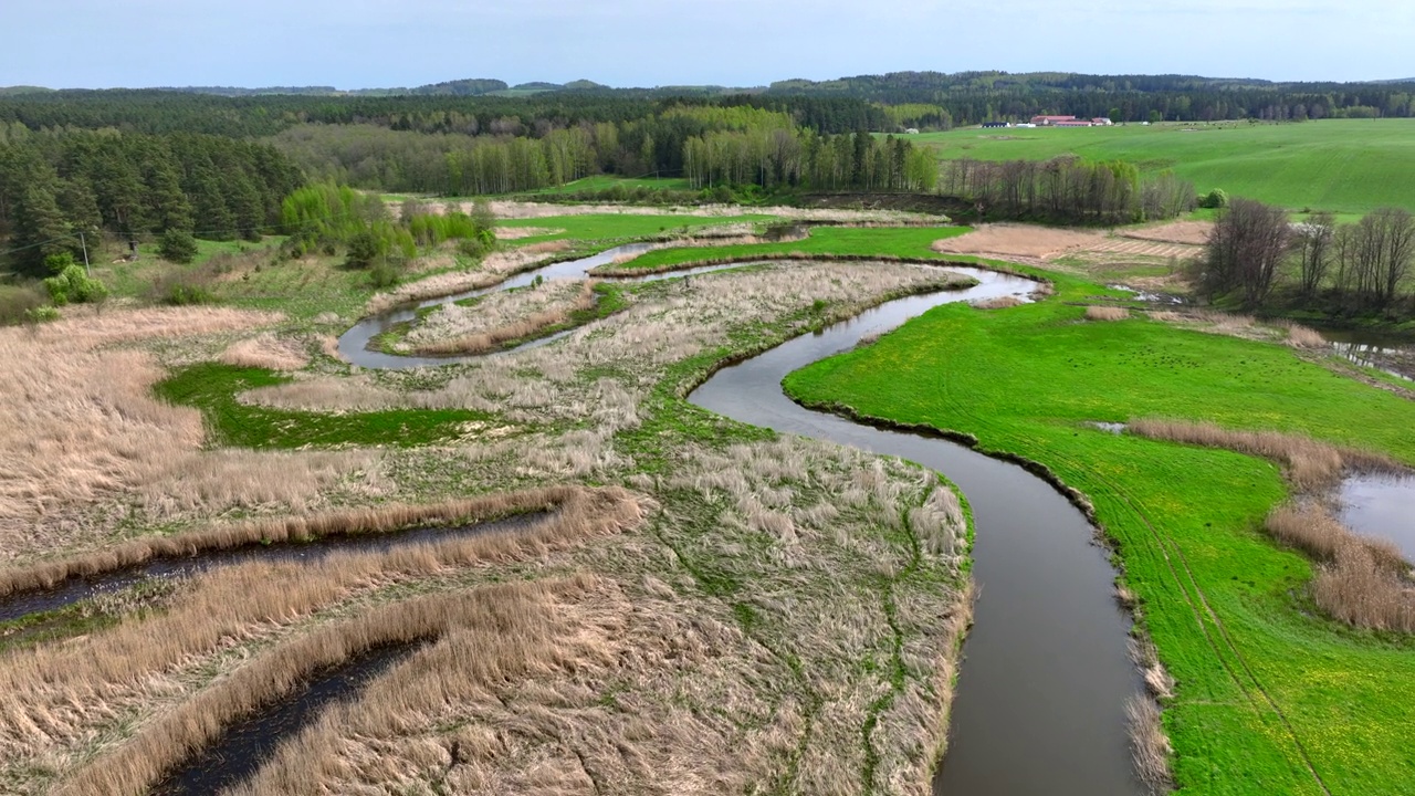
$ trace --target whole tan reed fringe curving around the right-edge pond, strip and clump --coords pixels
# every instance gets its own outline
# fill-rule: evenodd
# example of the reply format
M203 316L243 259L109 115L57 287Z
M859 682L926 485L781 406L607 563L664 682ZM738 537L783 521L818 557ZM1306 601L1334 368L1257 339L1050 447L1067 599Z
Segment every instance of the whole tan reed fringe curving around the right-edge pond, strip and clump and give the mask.
M1283 465L1300 497L1279 506L1264 527L1274 538L1320 562L1312 595L1329 616L1375 630L1415 632L1415 584L1399 548L1385 540L1358 537L1339 523L1317 496L1340 483L1346 470L1404 472L1384 455L1337 448L1306 436L1234 431L1184 421L1132 421L1131 433L1189 445L1225 448Z

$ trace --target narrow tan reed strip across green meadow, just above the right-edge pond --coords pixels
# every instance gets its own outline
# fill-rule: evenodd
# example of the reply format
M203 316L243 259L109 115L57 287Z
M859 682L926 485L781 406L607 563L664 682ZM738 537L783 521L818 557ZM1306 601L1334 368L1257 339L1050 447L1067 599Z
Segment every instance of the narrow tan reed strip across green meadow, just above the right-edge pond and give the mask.
M1204 448L1224 448L1251 456L1262 456L1283 465L1285 474L1303 491L1336 484L1343 469L1370 472L1398 472L1394 459L1370 450L1337 448L1334 445L1276 431L1240 431L1215 423L1139 418L1128 431L1150 439L1167 439Z

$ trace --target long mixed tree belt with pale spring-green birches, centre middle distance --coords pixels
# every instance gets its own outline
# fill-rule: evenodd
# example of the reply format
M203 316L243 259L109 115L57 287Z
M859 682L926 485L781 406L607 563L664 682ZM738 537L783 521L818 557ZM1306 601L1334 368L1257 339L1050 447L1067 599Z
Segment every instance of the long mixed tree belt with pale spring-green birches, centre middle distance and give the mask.
M560 186L589 174L686 177L693 188L932 190L934 156L903 139L818 133L785 109L685 103L627 122L542 136L301 125L270 139L311 177L351 186L453 195Z

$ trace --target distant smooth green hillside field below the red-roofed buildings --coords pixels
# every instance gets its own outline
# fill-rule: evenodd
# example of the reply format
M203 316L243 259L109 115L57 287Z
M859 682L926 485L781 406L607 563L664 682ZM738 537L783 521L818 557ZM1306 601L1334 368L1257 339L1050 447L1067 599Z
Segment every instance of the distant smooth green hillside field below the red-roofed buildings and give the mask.
M1172 169L1200 193L1223 188L1292 211L1415 210L1415 119L969 127L910 140L932 146L941 159L1044 160L1073 153L1128 160L1143 171Z

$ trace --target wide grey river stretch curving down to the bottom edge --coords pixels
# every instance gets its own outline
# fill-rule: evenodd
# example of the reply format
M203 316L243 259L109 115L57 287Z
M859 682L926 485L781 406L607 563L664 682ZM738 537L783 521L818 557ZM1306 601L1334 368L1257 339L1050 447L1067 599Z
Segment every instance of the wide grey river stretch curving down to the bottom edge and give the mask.
M1092 527L1027 470L962 445L882 431L805 409L781 391L791 371L852 348L947 302L1027 293L1030 282L958 268L976 288L890 302L724 368L689 395L741 422L900 456L948 476L976 524L981 593L934 792L948 796L1143 793L1124 703L1140 693L1126 656L1129 619ZM1097 431L1095 433L1104 433Z

